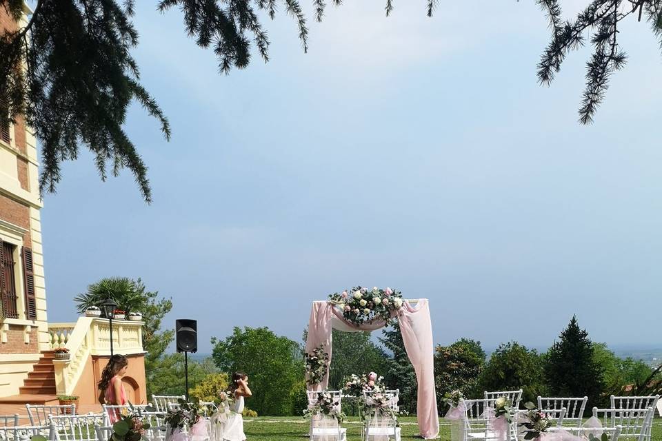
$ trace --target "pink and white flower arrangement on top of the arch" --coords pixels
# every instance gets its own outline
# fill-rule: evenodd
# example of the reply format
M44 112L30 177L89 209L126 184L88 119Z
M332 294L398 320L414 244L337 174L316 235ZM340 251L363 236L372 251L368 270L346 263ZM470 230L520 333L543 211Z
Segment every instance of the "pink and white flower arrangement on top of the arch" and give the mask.
M343 311L343 318L355 325L370 322L375 318L391 320L394 311L403 305L402 293L390 288L372 290L363 287L353 287L341 294L329 294L329 302Z

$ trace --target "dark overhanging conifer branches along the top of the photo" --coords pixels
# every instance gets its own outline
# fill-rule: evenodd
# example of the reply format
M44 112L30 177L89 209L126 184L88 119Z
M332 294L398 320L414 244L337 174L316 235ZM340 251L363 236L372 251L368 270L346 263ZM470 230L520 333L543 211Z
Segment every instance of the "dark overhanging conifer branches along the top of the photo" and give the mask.
M321 21L327 1L314 0L314 17ZM339 5L341 0L332 0ZM436 0L425 0L432 17ZM662 0L592 0L572 21L561 19L559 0L536 0L548 15L552 40L543 52L538 76L549 84L571 50L585 44L592 32L593 55L587 63L586 89L579 110L580 121L589 123L603 101L611 74L625 64L616 37L619 23L630 15L642 16L662 37ZM277 6L297 22L303 50L308 50L308 24L298 0L160 0L161 12L178 8L185 30L201 48L210 48L219 59L219 70L245 68L252 51L268 61L269 39L261 22L262 12L274 19ZM628 4L628 8L623 8ZM19 19L22 0L2 2ZM394 8L386 0L386 15ZM0 34L0 101L8 112L0 119L25 115L41 141L43 166L41 192L54 192L61 180L61 163L72 161L86 147L95 157L101 179L117 176L123 167L134 175L146 201L152 200L147 166L124 131L129 105L134 101L154 116L165 139L170 125L157 101L140 83L138 65L131 50L138 44L133 24L134 1L121 5L113 0L37 0L34 12L22 28ZM24 65L25 69L17 66ZM4 121L0 121L3 123Z

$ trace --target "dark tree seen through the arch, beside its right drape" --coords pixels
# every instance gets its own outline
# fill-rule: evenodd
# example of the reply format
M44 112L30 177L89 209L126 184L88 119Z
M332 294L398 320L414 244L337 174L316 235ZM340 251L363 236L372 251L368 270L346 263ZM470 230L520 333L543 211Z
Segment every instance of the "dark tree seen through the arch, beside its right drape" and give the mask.
M379 341L390 352L390 356L387 355L386 358L385 383L392 389L400 389L401 409L409 413L416 412L416 372L405 350L399 323L395 322L392 327L382 329Z

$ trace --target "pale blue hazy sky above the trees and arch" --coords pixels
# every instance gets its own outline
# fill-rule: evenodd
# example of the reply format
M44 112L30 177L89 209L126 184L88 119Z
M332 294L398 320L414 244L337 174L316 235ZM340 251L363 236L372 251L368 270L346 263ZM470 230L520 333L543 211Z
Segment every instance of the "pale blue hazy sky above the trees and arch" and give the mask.
M310 19L304 54L283 10L269 63L219 74L181 13L138 2L141 80L172 125L139 106L126 130L154 203L89 154L42 210L48 318L99 278L172 297L199 351L232 328L300 340L312 300L356 285L429 298L434 342L548 347L573 314L593 340L659 345L661 52L623 22L625 70L594 124L577 122L590 50L550 88L533 1L345 1ZM566 17L586 1L565 1Z

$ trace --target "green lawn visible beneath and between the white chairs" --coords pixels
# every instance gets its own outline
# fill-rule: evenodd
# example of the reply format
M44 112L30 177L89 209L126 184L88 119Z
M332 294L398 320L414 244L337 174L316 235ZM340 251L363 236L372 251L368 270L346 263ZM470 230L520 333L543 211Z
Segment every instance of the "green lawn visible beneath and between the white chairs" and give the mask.
M419 432L415 417L401 417L402 439L414 440ZM343 422L347 428L348 441L361 440L361 432L357 418L348 418ZM308 432L308 421L297 417L259 417L245 418L244 431L248 441L285 441L303 440ZM441 420L441 440L450 441L450 427ZM622 438L621 438L622 439ZM662 418L655 418L651 441L662 441Z

